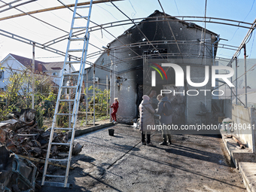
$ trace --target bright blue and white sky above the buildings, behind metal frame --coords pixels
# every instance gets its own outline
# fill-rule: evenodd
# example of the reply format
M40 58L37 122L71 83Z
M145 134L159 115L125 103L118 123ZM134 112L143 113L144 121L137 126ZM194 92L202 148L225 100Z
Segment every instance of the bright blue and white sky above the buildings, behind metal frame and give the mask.
M25 1L25 0L24 0ZM5 2L12 2L11 0L6 0ZM62 0L62 2L67 5L74 3L71 0ZM84 1L83 1L84 2ZM163 5L163 9L166 14L172 16L199 16L204 17L205 15L205 0L160 0ZM155 10L162 11L159 2L157 0L124 0L120 2L114 2L121 11L123 11L130 18L142 18L148 17ZM239 20L248 23L253 23L256 18L256 3L254 0L240 1L240 0L208 0L206 6L206 17L218 17L229 20ZM2 5L2 4L1 4ZM61 5L55 0L38 0L37 2L32 2L28 5L23 5L19 7L23 11L34 11L42 8L51 8L54 6ZM12 14L19 14L19 11L11 10L0 13L0 18L9 16ZM72 12L67 9L62 9L58 11L49 11L41 14L33 14L33 16L45 20L47 23L51 23L54 26L58 26L61 29L69 31L70 22L72 20ZM111 3L102 3L93 5L93 12L91 20L98 24L110 23L117 20L126 20L127 18L120 13L116 8L114 8ZM197 23L200 26L204 26L204 23ZM108 31L111 32L116 37L121 35L125 29L130 26L119 26L115 28L109 28ZM59 36L65 35L65 32L61 32L58 29L54 29L47 26L45 23L41 23L31 17L17 17L10 20L0 21L0 29L8 32L12 32L16 35L20 35L24 38L29 38L33 41L37 41L41 44L50 41ZM236 26L220 25L215 23L206 23L206 29L211 30L219 35L221 38L227 39L228 41L221 40L221 44L229 44L233 46L239 46L242 39L245 37L248 29L238 28ZM248 59L256 58L256 48L254 44L255 31L252 33L250 41L248 41L247 55ZM102 31L93 32L90 36L90 43L96 45L99 48L106 46L108 42L112 41L114 38L108 33ZM55 44L53 47L56 49L66 51L66 41L62 43ZM89 47L89 52L94 52L96 48ZM19 41L14 41L11 38L5 38L0 35L0 60L4 59L8 53L14 53L20 56L32 57L32 46L28 44L20 43ZM234 50L218 49L218 56L231 58L235 53ZM50 62L50 61L63 61L64 57L59 56L54 53L41 50L39 48L35 49L35 57L38 60ZM243 57L243 53L239 55L239 58ZM96 59L93 58L93 59ZM253 65L254 63L249 63L248 65ZM225 63L220 63L220 65L225 65ZM242 72L242 71L241 71ZM256 87L255 87L256 88Z

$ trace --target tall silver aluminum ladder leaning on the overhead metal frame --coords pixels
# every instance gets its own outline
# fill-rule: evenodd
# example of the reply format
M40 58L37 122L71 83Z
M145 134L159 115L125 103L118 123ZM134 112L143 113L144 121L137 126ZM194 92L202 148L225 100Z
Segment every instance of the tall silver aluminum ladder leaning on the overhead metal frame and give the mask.
M78 108L79 108L79 101L80 101L80 96L81 96L81 89L82 89L82 84L83 84L83 75L84 75L84 67L85 67L85 61L87 58L87 49L88 49L88 44L89 44L89 38L90 38L90 33L88 32L89 29L89 23L90 23L90 14L92 11L92 5L93 5L93 0L90 0L90 5L87 6L79 6L78 5L78 0L75 1L75 8L74 8L74 14L72 18L72 24L71 24L71 29L69 32L69 41L66 49L66 56L65 56L65 62L64 66L62 69L62 77L60 80L60 85L59 85L59 93L56 101L56 107L54 111L54 116L53 116L53 123L50 129L50 139L49 139L49 144L47 148L47 155L45 158L45 164L44 164L44 173L43 173L43 178L41 181L41 185L47 185L47 186L53 186L53 187L72 187L72 184L68 183L68 178L69 178L69 167L70 167L70 161L72 158L72 148L73 148L73 143L74 143L74 138L75 138L75 126L76 126L76 120L78 117ZM81 11L86 11L87 16L81 16L80 14L79 17L76 16L77 9L81 9ZM80 19L80 20L79 20ZM86 19L82 20L85 21L84 23L87 23L86 26L79 26L78 20L81 21L81 19ZM75 36L74 32L77 30L85 29L85 35L84 38L78 38ZM73 32L74 31L74 32ZM81 49L72 49L72 42L78 43L78 42L84 41L84 43L81 43L80 45L82 46ZM79 45L79 44L78 44ZM75 46L77 47L77 46ZM69 53L76 53L81 56L80 61L70 61L69 60ZM81 55L82 53L82 55ZM78 64L80 63L80 70L79 73L71 73L70 70L67 72L66 66L69 65L69 68L72 64ZM69 91L69 95L67 92ZM75 99L70 98L70 93L75 93ZM66 93L66 94L65 94ZM74 94L73 94L74 95ZM69 96L69 98L67 98ZM61 110L61 107L64 105L69 105L72 106L69 108L69 113L63 113ZM72 111L72 112L71 112ZM56 127L56 120L58 117L66 117L66 119L69 119L69 128L62 128L62 127ZM72 127L71 127L72 126ZM70 139L70 142L65 143L65 142L53 142L53 135L55 130L62 130L62 131L71 131L72 136ZM52 159L50 158L50 151L53 145L66 145L69 146L69 156L66 159ZM47 166L49 161L61 161L61 162L66 162L66 174L65 175L47 175ZM64 181L63 182L51 182L51 181L45 181L46 178L62 178Z

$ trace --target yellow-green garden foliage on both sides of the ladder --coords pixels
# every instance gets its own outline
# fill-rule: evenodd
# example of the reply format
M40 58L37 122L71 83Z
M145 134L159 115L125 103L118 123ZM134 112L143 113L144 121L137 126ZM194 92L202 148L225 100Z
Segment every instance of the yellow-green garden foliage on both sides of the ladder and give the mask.
M1 66L0 66L1 68ZM5 70L4 68L2 70ZM53 117L56 105L56 90L53 90L52 81L46 75L32 75L29 69L23 72L13 72L5 82L6 91L0 92L0 121L6 120L12 111L20 112L21 109L32 108L32 78L35 79L35 110L38 127L44 128L44 117ZM93 86L88 88L92 93ZM95 88L95 114L96 118L105 119L109 110L109 90ZM88 111L93 112L93 96L88 97ZM80 110L86 110L86 104L81 102ZM59 103L59 113L69 113L69 105L66 102ZM93 116L90 116L93 117ZM89 120L89 118L88 118ZM84 120L81 122L84 123ZM56 118L59 127L69 126L69 116L62 115Z

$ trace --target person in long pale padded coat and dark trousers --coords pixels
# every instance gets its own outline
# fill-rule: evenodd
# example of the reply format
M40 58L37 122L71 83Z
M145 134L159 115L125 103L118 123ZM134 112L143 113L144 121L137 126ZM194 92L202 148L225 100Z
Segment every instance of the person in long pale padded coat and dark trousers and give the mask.
M154 126L154 108L149 102L149 96L142 96L142 102L139 105L140 114L140 127L139 130L142 132L142 145L152 145L151 144L151 130L147 129L147 126ZM145 134L147 133L147 143L145 142Z

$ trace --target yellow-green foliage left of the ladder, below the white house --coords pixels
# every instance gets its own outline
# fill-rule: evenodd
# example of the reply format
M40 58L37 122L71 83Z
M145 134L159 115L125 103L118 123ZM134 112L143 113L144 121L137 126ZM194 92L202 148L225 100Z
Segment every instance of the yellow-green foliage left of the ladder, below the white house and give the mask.
M12 111L32 108L32 75L29 70L14 72L6 69L10 73L6 81L7 89L0 93L0 120L6 120ZM44 114L52 115L52 108L56 102L56 96L50 89L50 78L45 75L34 75L35 79L35 110L38 126L43 127ZM50 94L48 94L50 92ZM46 94L44 94L46 93ZM45 107L47 102L47 108ZM50 105L49 105L50 103Z

